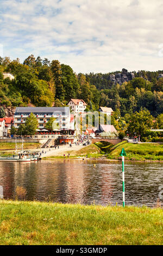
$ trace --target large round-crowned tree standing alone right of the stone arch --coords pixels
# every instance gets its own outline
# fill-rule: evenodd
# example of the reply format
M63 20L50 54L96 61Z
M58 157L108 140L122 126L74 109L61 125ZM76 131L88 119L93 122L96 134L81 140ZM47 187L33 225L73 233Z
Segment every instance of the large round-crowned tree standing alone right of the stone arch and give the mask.
M149 129L151 129L152 125L153 117L150 112L147 109L141 109L140 112L131 114L128 125L128 132L131 136L138 136L140 141L140 138L145 135Z

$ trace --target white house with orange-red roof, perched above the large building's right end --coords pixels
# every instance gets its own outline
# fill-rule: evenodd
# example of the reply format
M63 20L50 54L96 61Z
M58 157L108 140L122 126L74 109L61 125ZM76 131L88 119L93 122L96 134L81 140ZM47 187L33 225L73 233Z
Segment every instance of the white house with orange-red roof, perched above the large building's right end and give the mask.
M87 104L84 100L71 99L70 101L68 101L68 106L70 106L71 110L74 111L74 113L84 113Z

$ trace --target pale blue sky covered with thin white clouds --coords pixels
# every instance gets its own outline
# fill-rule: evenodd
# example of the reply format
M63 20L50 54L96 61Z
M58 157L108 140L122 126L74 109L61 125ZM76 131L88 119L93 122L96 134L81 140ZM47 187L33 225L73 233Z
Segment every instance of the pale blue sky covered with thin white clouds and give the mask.
M74 72L163 69L162 0L0 0L0 56Z

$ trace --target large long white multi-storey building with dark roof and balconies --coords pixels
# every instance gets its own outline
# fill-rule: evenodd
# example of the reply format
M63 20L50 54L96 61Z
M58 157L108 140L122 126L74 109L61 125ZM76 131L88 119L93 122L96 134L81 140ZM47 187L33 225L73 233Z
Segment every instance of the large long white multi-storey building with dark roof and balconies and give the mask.
M17 107L14 115L14 126L18 128L26 123L27 117L33 113L38 120L38 129L45 129L51 117L56 118L60 130L70 129L70 107Z

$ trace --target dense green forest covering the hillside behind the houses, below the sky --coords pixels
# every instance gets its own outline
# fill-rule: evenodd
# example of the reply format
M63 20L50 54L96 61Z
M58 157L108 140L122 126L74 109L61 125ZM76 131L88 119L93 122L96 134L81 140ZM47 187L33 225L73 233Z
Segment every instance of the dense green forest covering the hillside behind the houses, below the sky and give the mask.
M4 79L4 72L15 79ZM143 108L158 117L163 113L163 78L158 78L163 71L133 72L133 79L118 84L110 80L116 72L76 74L59 60L30 55L21 63L18 58L0 57L0 106L66 106L78 98L87 103L86 110L106 106L124 117Z

